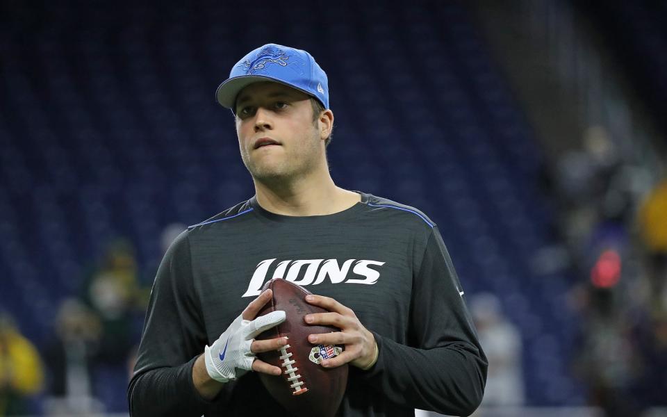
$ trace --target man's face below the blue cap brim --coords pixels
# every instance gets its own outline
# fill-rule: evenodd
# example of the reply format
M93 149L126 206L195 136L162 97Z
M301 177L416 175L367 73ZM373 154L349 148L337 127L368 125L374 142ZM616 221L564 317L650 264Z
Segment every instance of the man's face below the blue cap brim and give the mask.
M254 179L286 181L325 161L308 95L286 85L254 83L236 101L236 134L243 163Z

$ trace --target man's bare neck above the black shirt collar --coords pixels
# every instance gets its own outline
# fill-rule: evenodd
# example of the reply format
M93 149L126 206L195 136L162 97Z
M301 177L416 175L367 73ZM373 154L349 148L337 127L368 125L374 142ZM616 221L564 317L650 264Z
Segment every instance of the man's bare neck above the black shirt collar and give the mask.
M338 213L361 201L361 195L336 186L331 177L322 181L293 181L267 186L254 181L258 204L281 215L307 216Z

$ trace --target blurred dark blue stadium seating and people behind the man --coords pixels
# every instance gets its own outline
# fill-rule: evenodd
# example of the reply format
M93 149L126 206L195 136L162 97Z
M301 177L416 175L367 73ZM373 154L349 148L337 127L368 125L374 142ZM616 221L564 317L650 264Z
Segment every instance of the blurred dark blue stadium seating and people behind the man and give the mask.
M480 415L659 415L666 3L493 3L1 2L0 341L35 355L0 415L126 413L164 241L253 194L213 92L267 42L327 71L334 181L425 211L518 332Z

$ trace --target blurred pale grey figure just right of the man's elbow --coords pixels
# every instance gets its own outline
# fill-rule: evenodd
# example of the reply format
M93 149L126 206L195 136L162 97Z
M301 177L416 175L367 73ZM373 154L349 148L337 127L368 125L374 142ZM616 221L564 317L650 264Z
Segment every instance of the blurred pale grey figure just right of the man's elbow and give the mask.
M482 406L516 406L525 401L521 366L521 334L502 313L493 294L481 293L470 300L479 343L488 358L488 376Z

